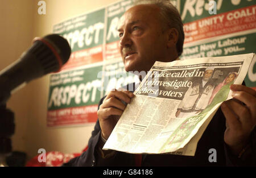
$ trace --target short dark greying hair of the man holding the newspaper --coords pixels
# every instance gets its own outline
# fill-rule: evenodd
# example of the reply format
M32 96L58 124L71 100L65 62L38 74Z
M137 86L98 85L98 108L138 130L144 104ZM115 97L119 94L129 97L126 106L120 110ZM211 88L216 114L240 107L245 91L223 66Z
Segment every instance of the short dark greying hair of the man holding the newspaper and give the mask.
M158 6L160 8L160 18L162 18L163 23L166 23L169 28L176 28L179 35L176 49L178 55L180 56L183 52L184 31L179 11L174 5L172 5L170 0L135 0L134 2L134 6L145 4Z

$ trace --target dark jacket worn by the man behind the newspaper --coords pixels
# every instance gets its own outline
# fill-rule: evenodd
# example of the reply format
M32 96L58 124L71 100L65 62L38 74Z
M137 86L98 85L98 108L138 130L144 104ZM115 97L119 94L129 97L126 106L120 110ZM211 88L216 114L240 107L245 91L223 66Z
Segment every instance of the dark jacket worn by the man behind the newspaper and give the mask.
M104 97L105 98L105 97ZM100 104L104 98L101 98ZM251 153L245 158L238 159L230 154L224 143L225 117L221 109L218 109L212 121L210 121L204 134L197 144L195 156L180 156L170 154L144 154L142 155L142 166L225 166L225 165L256 165L255 129L251 134ZM64 166L134 166L135 155L116 151L115 155L102 159L98 154L97 143L100 138L100 124L97 120L92 136L89 139L88 150L80 156L73 158ZM210 148L217 152L217 162L209 162Z

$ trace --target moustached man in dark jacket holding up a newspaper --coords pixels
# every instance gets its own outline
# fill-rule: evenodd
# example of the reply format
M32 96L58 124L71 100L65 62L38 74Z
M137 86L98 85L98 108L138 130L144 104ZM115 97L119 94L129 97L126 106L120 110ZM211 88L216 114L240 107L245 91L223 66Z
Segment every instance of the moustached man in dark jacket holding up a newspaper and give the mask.
M182 23L178 11L169 2L154 1L150 5L136 5L123 15L118 31L126 71L149 71L155 60L174 61L181 55L184 41ZM227 161L253 164L250 136L254 134L256 123L256 92L242 85L233 85L231 89L236 100L222 104L224 115L221 110L214 115L197 145L195 156L142 155L141 165L226 165ZM137 156L134 154L102 150L126 107L123 102L129 104L131 98L132 92L115 90L101 99L98 121L89 140L88 150L65 165L136 165ZM210 148L217 151L216 163L208 161Z

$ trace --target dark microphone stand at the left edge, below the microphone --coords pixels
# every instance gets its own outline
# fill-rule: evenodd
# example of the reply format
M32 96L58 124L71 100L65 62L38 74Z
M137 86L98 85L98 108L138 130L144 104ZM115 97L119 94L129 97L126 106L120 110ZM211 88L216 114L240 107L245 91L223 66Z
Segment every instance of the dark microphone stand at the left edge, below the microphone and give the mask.
M0 167L6 166L6 157L11 154L11 136L15 130L14 113L6 108L6 101L9 97L9 93L0 97Z

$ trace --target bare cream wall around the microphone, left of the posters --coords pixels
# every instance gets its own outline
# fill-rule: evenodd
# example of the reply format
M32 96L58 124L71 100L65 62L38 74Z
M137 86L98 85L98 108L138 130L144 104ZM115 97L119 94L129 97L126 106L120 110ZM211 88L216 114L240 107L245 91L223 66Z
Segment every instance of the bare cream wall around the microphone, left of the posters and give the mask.
M35 36L51 34L53 25L79 14L110 5L117 0L45 0L46 14L39 15L39 1L2 0L0 68L12 63L31 45ZM7 107L15 113L13 150L24 151L28 159L39 148L63 153L81 152L88 143L92 125L48 128L46 126L49 75L31 81L11 96Z

